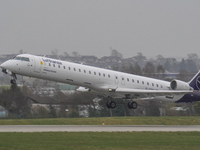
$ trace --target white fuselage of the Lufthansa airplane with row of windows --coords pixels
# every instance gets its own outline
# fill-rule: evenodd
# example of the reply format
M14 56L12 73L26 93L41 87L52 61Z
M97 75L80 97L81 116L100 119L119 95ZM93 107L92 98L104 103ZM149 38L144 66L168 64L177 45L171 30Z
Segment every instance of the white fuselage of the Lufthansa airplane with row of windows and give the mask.
M23 76L87 87L107 95L117 95L117 93L109 91L109 89L117 88L170 90L170 82L163 80L29 54L23 54L21 57L28 57L29 61L9 60L11 68L7 64L8 70ZM134 95L132 96L134 97ZM182 96L178 95L170 99L165 96L155 98L176 101Z

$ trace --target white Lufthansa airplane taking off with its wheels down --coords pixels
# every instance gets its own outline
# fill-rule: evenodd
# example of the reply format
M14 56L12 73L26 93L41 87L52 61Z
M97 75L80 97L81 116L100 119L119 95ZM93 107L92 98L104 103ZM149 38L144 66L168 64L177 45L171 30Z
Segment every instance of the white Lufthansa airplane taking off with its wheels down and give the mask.
M137 108L137 100L200 101L200 71L189 82L168 82L31 54L17 55L0 67L12 76L12 84L16 84L16 75L22 75L77 85L77 91L98 91L108 99L106 106L111 109L116 107L117 98L127 100L129 109Z

